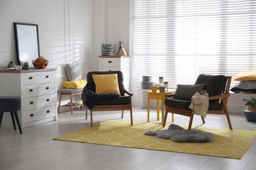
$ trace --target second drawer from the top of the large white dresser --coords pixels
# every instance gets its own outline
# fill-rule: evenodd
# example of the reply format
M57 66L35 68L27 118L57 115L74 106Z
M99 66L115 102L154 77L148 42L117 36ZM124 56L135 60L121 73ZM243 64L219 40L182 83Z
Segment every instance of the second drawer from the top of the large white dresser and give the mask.
M55 93L55 84L54 82L45 83L45 84L35 84L35 85L26 85L23 86L22 95L26 97L35 97L38 95L47 95Z

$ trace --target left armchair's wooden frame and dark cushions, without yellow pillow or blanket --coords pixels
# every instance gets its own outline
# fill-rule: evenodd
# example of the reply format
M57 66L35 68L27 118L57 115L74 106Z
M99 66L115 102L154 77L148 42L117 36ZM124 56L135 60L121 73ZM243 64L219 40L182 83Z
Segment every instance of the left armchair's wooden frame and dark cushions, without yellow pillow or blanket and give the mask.
M118 85L120 96L112 99L102 100L90 109L91 110L91 127L93 127L93 112L95 111L110 111L110 110L121 110L121 118L123 118L123 111L130 110L131 125L133 125L133 107L132 107L132 96L133 93L128 92L123 86L123 73L121 71L93 71L87 74L87 83L93 82L93 75L106 75L106 74L117 74ZM85 86L87 88L87 86ZM125 95L126 94L126 95ZM84 96L83 96L84 97ZM88 107L86 107L85 119L87 119Z

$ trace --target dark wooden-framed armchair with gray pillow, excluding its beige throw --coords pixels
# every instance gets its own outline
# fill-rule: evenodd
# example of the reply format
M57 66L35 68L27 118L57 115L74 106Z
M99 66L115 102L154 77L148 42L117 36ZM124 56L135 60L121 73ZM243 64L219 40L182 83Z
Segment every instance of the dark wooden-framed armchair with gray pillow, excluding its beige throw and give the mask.
M228 109L226 107L228 97L230 96L230 82L231 76L199 75L194 85L178 85L175 94L167 95L167 98L165 99L165 117L163 120L163 127L165 127L168 112L171 112L172 122L174 121L174 113L189 116L190 122L188 129L191 129L194 118L194 113L189 109L191 97L196 92L200 93L202 90L206 90L207 93L209 93L209 107L207 113L226 114L228 126L232 129ZM204 124L204 117L201 117Z

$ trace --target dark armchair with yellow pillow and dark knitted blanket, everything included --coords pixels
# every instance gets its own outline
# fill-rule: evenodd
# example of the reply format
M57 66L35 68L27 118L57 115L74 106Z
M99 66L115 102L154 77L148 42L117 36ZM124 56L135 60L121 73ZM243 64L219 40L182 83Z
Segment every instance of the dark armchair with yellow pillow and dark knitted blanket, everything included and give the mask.
M109 86L110 85L110 86ZM117 88L114 88L114 87ZM113 89L114 88L114 89ZM111 90L110 90L111 89ZM91 127L93 127L93 111L130 110L133 125L132 97L123 86L121 71L93 71L87 74L87 85L83 89L83 105L91 110Z

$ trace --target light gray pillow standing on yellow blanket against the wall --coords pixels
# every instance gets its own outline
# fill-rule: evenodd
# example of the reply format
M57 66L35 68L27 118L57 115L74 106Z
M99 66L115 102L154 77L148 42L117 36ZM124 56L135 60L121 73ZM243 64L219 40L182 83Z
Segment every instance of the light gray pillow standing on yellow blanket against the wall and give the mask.
M65 71L70 82L81 80L82 78L78 63L67 63Z

